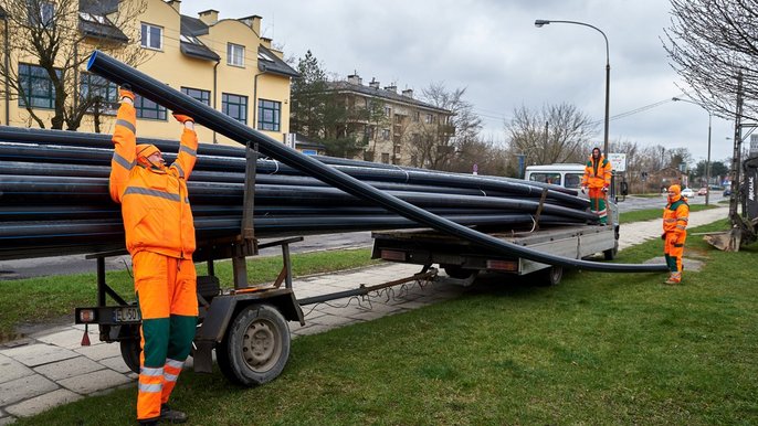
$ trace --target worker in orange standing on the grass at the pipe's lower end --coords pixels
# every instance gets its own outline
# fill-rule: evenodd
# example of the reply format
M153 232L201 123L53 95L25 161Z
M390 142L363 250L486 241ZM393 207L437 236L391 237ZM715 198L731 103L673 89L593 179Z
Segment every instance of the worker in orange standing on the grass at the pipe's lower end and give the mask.
M682 255L684 241L687 239L687 222L689 221L689 205L682 196L680 185L668 187L668 204L663 209L663 253L671 275L665 284L682 283Z

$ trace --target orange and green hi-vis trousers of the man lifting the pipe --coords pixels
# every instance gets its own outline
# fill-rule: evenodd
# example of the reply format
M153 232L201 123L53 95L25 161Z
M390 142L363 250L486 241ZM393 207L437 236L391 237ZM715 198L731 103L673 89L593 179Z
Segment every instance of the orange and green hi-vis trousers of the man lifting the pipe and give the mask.
M197 275L191 259L143 251L131 260L143 316L137 419L157 419L194 339Z

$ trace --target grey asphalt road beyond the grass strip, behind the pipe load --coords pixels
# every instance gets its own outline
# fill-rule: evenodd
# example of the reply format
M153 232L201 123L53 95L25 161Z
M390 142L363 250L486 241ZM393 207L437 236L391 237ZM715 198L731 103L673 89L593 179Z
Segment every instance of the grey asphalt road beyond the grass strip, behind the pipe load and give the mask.
M722 193L713 192L710 194L710 203L717 203L723 200ZM663 209L665 205L665 198L638 198L628 196L625 200L620 200L619 210L623 212L631 212L634 210L645 209ZM689 200L689 204L704 204L705 196L694 196ZM262 241L265 243L265 241ZM303 242L291 245L291 253L307 253L324 249L340 249L351 247L368 247L371 245L370 232L352 232L346 234L331 235L313 235L306 236ZM261 251L262 256L281 256L280 247L272 247ZM57 256L57 257L42 257L33 259L21 260L0 260L0 281L8 279L21 279L29 277L50 276L50 275L71 275L82 273L94 273L96 267L95 260L87 260L84 255L75 256ZM131 267L129 256L110 257L105 262L107 270L124 269Z

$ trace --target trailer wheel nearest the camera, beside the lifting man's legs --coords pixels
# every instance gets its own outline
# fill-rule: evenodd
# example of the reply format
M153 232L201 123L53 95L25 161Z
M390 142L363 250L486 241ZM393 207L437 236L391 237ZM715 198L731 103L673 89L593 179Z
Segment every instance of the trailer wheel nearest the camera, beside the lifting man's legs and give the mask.
M232 382L253 386L282 373L289 358L289 329L270 305L251 305L236 315L215 350L221 372Z

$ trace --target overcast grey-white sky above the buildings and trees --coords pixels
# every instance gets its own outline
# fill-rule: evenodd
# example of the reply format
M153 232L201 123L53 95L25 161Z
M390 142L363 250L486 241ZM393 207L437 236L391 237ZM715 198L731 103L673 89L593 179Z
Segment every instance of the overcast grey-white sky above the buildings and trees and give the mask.
M211 6L209 6L211 4ZM504 120L522 105L570 103L600 121L604 115L606 43L610 44L610 139L641 146L686 147L707 155L708 114L666 102L684 84L662 47L670 24L666 0L185 0L182 14L213 8L220 18L263 17L262 32L285 56L310 50L327 72L357 72L415 94L430 83L466 88L483 135L505 140ZM642 113L613 118L661 102ZM712 160L731 156L733 124L713 119Z

